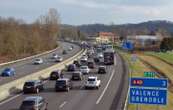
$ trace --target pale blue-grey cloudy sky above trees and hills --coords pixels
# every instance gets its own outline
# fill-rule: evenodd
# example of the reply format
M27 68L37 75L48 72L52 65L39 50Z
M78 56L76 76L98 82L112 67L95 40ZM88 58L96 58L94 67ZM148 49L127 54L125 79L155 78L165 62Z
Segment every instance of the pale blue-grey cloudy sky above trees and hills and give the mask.
M50 8L62 24L125 24L173 21L173 0L0 0L0 16L32 23Z

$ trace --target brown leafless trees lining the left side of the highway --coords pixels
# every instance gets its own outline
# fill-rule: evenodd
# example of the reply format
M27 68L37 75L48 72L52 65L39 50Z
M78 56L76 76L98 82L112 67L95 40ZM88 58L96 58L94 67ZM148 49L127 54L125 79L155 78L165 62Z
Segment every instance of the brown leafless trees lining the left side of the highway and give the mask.
M0 56L17 59L57 47L60 18L56 9L31 24L15 18L0 17Z

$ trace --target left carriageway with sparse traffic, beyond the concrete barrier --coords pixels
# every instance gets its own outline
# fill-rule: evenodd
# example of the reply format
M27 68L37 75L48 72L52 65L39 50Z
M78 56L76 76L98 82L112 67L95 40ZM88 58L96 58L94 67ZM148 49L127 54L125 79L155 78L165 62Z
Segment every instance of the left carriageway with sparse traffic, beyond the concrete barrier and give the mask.
M73 45L74 49L72 51L67 51L66 55L62 55L62 50L68 50L69 47ZM51 59L53 53L57 53L58 55L63 56L64 59L67 59L73 55L75 55L78 51L80 51L81 48L75 44L67 43L67 42L60 42L60 48L58 48L55 52L52 52L50 54L42 55L39 58L42 58L44 63L41 65L34 65L33 62L35 59L30 59L26 61L21 61L18 63L14 63L8 66L2 66L0 67L0 71L2 71L6 67L13 67L16 70L16 75L14 77L0 77L0 85L8 83L10 81L13 81L15 79L21 78L25 75L37 72L39 70L45 69L47 67L50 67L57 62L54 61L54 59Z

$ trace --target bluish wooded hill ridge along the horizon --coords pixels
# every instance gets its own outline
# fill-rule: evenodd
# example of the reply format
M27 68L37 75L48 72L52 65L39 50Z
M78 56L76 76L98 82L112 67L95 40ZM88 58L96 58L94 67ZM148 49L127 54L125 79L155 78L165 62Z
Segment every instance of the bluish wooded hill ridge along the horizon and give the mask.
M160 30L173 35L173 22L161 20L122 25L88 24L77 28L87 35L94 35L100 31L114 32L118 35L152 34Z

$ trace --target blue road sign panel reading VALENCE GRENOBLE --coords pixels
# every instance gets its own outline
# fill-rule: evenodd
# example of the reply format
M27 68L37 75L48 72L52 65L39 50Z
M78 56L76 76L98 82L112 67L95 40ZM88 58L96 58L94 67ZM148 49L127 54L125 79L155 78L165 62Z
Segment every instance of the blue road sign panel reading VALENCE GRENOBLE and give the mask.
M130 88L129 103L166 105L167 90Z

